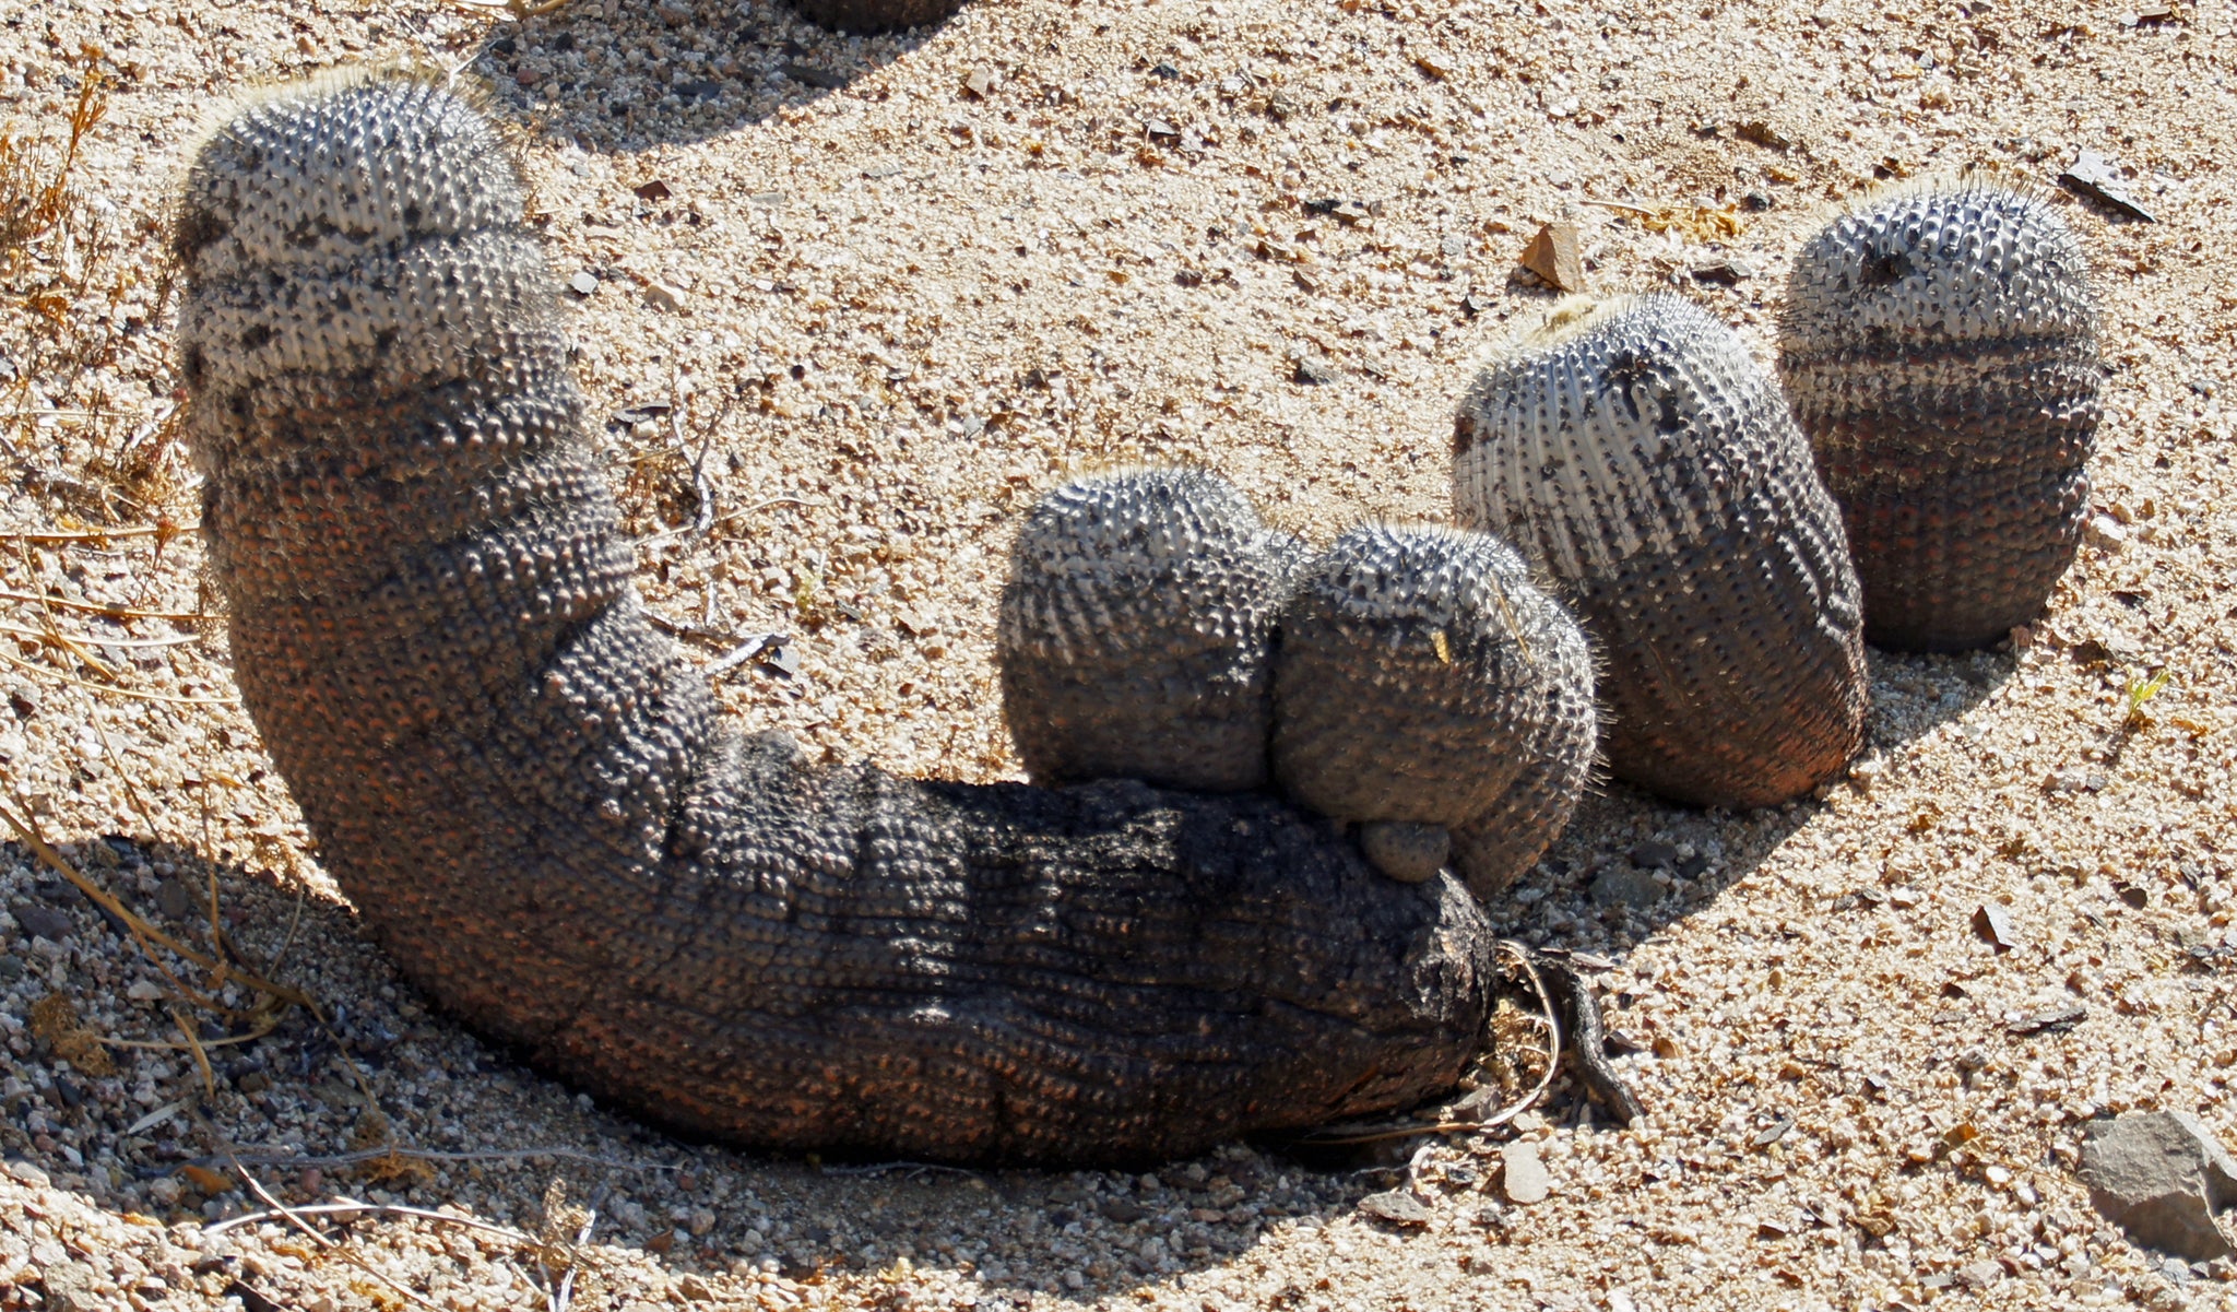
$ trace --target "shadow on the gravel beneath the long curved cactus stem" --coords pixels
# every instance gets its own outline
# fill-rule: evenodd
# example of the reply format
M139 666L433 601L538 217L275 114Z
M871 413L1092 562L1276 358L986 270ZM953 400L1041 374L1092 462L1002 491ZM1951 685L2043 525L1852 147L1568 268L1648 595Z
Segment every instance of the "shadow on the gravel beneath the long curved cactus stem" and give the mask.
M385 1189L407 1207L461 1207L528 1234L559 1182L570 1205L597 1209L597 1245L635 1249L673 1278L696 1274L718 1305L767 1305L756 1290L778 1281L908 1305L910 1281L962 1278L980 1308L1022 1310L1172 1285L1219 1299L1212 1287L1264 1240L1353 1216L1360 1198L1405 1178L1403 1155L1306 1162L1248 1142L1110 1171L819 1162L693 1142L537 1075L438 1012L315 871L282 873L280 840L226 860L136 835L51 837L72 840L74 864L148 925L197 949L208 949L215 880L235 960L320 1008L248 1037L251 1019L181 1005L208 1084L183 1048L114 1048L112 1070L87 1072L34 1034L13 1057L25 1090L0 1117L0 1155L114 1213L208 1222L259 1211L239 1189L195 1184L228 1178L235 1153L289 1205ZM264 858L273 869L259 869ZM25 920L31 907L63 922ZM132 996L159 976L130 929L18 844L0 844L0 909L18 920L0 920L11 1008L60 994L96 1034L177 1039L166 1003ZM25 922L60 938L38 945ZM181 978L204 983L192 969ZM251 999L235 987L230 1001ZM141 1124L148 1095L195 1115ZM1459 1178L1447 1187L1465 1193ZM242 1281L298 1305L284 1287Z

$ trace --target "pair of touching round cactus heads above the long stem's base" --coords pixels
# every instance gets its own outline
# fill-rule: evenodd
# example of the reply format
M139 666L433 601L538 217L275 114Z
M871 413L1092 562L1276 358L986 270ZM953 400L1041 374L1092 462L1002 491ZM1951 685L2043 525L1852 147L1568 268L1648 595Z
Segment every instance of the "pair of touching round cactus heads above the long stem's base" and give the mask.
M1479 896L1568 822L1591 660L1512 549L1369 524L1320 557L1204 470L1056 488L1002 589L1004 719L1042 784L1262 788L1360 828L1389 875ZM1456 835L1497 826L1497 842ZM1454 846L1459 842L1459 846Z

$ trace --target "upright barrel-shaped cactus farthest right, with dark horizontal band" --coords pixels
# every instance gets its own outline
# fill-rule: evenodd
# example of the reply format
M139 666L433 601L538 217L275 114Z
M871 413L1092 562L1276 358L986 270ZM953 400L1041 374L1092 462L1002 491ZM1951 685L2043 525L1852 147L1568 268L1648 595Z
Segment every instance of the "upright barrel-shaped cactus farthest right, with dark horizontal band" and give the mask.
M2080 546L2103 381L2051 199L1991 172L1866 193L1794 257L1778 336L1866 638L1957 652L2031 620Z

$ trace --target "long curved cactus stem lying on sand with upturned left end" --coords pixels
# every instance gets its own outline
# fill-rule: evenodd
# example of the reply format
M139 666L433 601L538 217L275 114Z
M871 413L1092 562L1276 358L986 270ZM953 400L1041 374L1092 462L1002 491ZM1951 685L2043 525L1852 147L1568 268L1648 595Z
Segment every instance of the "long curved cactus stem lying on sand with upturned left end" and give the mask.
M646 620L526 186L438 81L199 150L186 430L242 701L403 972L535 1066L740 1144L1139 1162L1450 1088L1459 880L1264 795L814 766Z

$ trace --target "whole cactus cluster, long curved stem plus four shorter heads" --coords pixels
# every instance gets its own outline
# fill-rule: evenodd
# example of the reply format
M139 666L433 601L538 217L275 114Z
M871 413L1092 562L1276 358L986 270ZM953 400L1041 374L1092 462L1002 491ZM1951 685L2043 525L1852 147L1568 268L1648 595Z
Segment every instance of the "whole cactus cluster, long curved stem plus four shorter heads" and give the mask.
M2024 193L1904 190L1805 251L1785 336L1861 596L1734 334L1573 302L1461 405L1463 528L1313 555L1201 470L1049 493L1000 625L1045 786L812 766L649 625L523 199L416 74L280 90L199 148L204 531L242 699L405 972L691 1133L1123 1162L1420 1102L1490 1012L1481 898L1593 770L1595 665L1615 772L1778 802L1854 752L1881 598L1982 640L2071 555L2071 237Z

